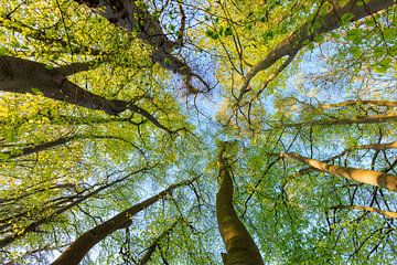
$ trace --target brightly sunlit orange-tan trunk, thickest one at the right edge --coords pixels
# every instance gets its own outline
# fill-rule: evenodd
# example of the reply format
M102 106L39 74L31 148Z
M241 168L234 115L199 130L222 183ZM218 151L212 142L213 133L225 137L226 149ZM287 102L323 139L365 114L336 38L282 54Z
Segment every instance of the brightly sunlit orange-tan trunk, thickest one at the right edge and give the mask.
M383 173L368 169L356 169L340 166L332 166L321 162L315 159L310 159L299 153L289 152L280 153L282 158L293 158L298 161L304 162L315 170L331 173L332 176L343 177L348 180L355 180L361 183L382 187L390 191L397 191L397 177L388 173Z

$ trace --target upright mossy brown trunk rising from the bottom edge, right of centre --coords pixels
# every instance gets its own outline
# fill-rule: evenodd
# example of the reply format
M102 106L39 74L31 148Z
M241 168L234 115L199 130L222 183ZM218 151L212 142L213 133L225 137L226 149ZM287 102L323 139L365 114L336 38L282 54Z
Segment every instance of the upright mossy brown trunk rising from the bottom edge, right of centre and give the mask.
M224 144L226 145L226 144ZM233 205L233 180L230 166L224 158L225 148L218 157L221 188L216 194L216 219L227 254L225 265L261 265L259 250L245 225L239 221Z

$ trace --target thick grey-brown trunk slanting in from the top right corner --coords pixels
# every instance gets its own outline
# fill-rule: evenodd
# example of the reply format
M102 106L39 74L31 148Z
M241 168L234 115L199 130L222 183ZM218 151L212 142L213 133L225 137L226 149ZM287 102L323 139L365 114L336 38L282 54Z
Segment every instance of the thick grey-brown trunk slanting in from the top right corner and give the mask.
M358 3L358 4L357 4ZM335 30L341 26L343 14L351 13L353 17L350 21L356 21L380 10L387 9L394 4L393 0L369 0L366 1L350 0L345 6L335 4L325 15L318 15L313 21L304 22L291 35L281 41L268 55L257 63L248 72L246 81L240 89L237 102L240 102L244 94L248 91L249 82L261 71L269 68L283 56L294 56L299 50L312 42L315 36ZM320 28L313 28L314 22L320 22Z

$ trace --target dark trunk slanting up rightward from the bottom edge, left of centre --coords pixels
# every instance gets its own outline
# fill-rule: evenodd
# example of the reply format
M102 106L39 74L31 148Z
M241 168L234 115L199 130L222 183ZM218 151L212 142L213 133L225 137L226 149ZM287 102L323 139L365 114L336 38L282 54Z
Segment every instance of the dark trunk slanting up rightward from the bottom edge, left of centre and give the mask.
M95 226L94 229L85 232L77 240L75 240L63 253L56 258L52 265L75 265L78 264L83 257L93 248L98 242L104 240L106 236L116 232L117 230L125 229L131 225L131 219L137 213L143 211L148 206L158 202L161 198L172 193L179 187L192 183L193 180L182 181L176 184L170 186L167 190L125 210L108 221Z

